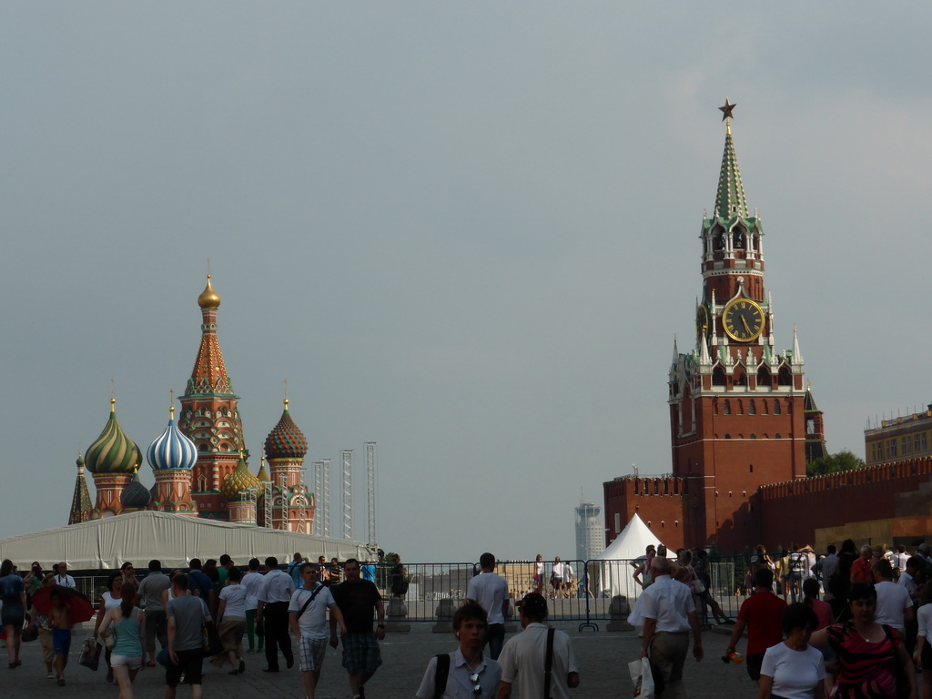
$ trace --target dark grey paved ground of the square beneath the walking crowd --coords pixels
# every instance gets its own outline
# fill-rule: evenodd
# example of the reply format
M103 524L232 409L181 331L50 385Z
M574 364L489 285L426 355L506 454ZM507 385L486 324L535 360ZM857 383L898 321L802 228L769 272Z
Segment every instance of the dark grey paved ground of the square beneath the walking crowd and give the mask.
M640 639L636 632L607 632L603 623L599 623L598 631L582 632L577 630L577 623L557 622L554 625L572 638L580 667L580 686L571 692L574 697L616 699L631 696L632 684L627 663L636 660L640 650ZM381 644L383 665L366 685L368 699L411 699L414 696L428 660L437 653L452 651L456 647L456 638L452 632L448 636L435 634L431 628L432 624L412 624L410 632L390 634L385 638ZM691 699L756 696L757 687L747 677L744 665L724 665L720 660L728 646L730 632L729 626L704 633L706 659L702 663L696 663L692 657L686 661L684 674ZM42 696L45 699L116 699L119 690L116 685L105 681L103 665L96 672L91 672L77 664L77 653L87 637L86 633L75 633L72 654L65 671L66 685L61 688L55 685L54 680L46 679L38 642L22 644L21 667L7 670L6 662L0 664L0 698L32 699ZM0 659L5 658L6 651L0 651ZM258 653L246 656L247 669L243 675L230 676L226 674L226 669L217 670L208 664L203 684L205 697L255 699L266 696L299 699L303 696L296 664L291 670L285 670L284 661L281 660L282 669L277 674L262 672L263 666L265 656ZM162 667L144 669L136 678L133 693L142 699L156 699L162 696L164 682L165 671ZM517 689L515 693L520 697L520 687ZM319 699L349 697L349 683L338 650L327 651L316 695ZM187 688L178 688L179 699L189 696Z

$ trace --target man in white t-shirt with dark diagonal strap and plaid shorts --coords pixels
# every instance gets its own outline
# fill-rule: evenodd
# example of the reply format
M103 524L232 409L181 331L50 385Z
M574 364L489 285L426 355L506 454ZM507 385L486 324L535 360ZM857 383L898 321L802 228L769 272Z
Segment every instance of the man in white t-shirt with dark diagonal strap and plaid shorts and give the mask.
M346 634L347 627L343 624L343 614L336 606L334 596L317 582L317 566L302 563L300 574L304 584L295 590L288 605L288 625L297 639L304 692L308 699L314 699L314 688L321 678L323 658L327 651L327 610L330 610L339 624L340 633Z

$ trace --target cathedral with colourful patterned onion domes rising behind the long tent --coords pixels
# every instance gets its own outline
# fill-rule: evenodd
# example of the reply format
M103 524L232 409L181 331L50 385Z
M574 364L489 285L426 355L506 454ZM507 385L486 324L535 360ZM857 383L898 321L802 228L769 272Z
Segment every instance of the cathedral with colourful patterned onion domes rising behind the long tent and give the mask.
M268 433L265 458L257 473L247 465L238 402L217 340L220 296L211 277L198 297L202 323L200 346L180 416L169 408L164 432L145 452L155 476L147 488L139 478L143 452L117 422L117 401L100 436L77 459L77 481L68 524L118 514L153 510L311 534L313 494L302 483L308 440L288 413L288 399L278 424ZM172 401L173 403L173 401ZM266 470L265 461L268 462ZM96 490L91 503L85 471Z

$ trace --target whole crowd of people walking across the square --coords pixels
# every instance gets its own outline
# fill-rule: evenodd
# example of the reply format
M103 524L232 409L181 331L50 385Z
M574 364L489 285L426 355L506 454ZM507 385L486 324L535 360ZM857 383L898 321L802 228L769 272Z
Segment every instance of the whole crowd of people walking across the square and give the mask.
M629 622L642 626L642 656L658 698L686 695L685 661L691 646L696 661L705 657L709 611L719 624L733 624L722 660L744 664L758 699L918 699L917 677L922 695L932 697L932 546L910 554L902 546L857 547L848 540L822 556L803 545L773 558L759 546L750 564L749 596L731 620L711 595L705 551L669 556L663 546L650 546L633 562L643 589ZM551 568L538 556L536 589L514 604L523 631L505 641L512 596L495 557L483 554L481 572L453 616L457 648L430 659L416 696L508 699L521 678L522 695L530 688L535 696L568 699L579 684L572 646L566 634L544 624L547 597L561 595L571 579L566 565L556 559ZM387 596L404 595L395 583L404 577L395 556L381 576ZM313 699L327 645L342 648L349 692L364 699L385 635L375 578L371 563L323 556L312 563L300 554L286 566L275 557L253 558L245 571L228 555L203 564L195 558L187 571L169 573L153 560L142 576L125 563L97 600L92 636L104 648L101 662L121 699L131 699L139 672L159 664L166 699L183 681L198 699L205 662L236 676L256 653L265 656L265 672L280 672L282 660L286 669L297 661L302 689ZM48 604L32 603L41 596ZM47 677L63 686L77 600L66 564L47 573L34 562L22 576L4 561L0 600L9 668L21 666L23 634L38 637Z

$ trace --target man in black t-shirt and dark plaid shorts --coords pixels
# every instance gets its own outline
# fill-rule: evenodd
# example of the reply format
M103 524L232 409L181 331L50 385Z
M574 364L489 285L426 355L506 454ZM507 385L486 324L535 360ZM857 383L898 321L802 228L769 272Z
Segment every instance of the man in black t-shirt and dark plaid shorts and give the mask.
M349 691L353 699L365 699L363 685L375 673L382 657L378 641L385 637L385 607L375 583L361 578L359 561L349 558L343 565L346 580L331 588L336 606L343 614L347 633L343 637L343 666L349 673ZM372 631L373 617L378 626ZM336 619L330 617L330 645L336 648Z

